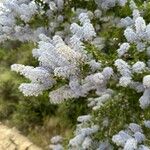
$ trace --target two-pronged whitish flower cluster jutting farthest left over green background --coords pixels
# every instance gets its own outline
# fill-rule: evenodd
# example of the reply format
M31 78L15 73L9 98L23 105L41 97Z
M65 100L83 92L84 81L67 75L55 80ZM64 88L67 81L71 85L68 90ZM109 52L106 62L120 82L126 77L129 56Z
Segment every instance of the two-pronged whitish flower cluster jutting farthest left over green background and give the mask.
M38 96L42 94L42 91L51 88L56 82L53 75L41 67L34 68L14 64L11 69L31 80L31 83L22 83L19 87L25 96Z

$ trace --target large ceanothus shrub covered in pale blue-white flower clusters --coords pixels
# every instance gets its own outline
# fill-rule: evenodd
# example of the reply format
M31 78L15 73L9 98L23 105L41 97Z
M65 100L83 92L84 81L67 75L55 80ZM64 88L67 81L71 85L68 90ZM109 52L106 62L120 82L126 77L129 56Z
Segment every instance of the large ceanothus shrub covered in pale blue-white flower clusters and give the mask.
M53 104L84 97L91 108L89 114L77 118L74 137L68 146L64 145L67 149L150 149L141 127L150 128L150 116L146 113L150 106L150 24L144 20L142 8L138 8L142 1L138 5L135 2L95 0L96 10L70 8L70 18L66 18L65 8L69 3L63 0L7 0L4 3L0 40L37 44L32 51L39 61L37 67L11 66L12 71L31 81L22 83L19 90L25 96L48 91ZM114 15L109 15L113 8L128 8L132 14L120 18L114 11ZM46 17L46 27L31 26L36 16ZM141 115L130 113L136 109L130 105L132 99ZM118 100L121 103L117 103ZM117 105L118 112L113 107ZM109 108L113 109L107 111ZM124 111L126 108L129 110ZM118 128L109 128L114 124L112 120L120 117L111 115L110 111L130 115L121 119L123 123L118 123ZM56 136L49 147L63 150L61 142L62 138Z

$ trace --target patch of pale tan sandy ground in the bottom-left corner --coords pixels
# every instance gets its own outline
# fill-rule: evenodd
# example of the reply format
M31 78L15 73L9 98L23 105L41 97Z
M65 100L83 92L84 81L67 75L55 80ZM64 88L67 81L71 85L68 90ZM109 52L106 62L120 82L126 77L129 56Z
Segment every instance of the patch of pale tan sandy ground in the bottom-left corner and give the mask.
M42 150L34 145L16 129L0 123L0 150Z

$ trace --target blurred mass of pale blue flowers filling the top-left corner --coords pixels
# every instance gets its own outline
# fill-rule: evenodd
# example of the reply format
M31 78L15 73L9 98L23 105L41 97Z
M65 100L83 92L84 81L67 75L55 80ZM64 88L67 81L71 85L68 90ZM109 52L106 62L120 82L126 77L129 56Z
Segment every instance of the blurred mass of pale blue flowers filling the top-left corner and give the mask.
M35 41L44 28L33 30L28 23L38 13L34 1L6 0L0 13L0 42L7 39L20 41Z

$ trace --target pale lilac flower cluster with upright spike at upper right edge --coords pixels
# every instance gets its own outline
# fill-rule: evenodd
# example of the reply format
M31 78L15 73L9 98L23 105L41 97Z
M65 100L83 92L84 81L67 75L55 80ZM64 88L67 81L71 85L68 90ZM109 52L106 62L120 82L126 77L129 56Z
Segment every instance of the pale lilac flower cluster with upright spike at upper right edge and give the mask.
M136 44L139 52L146 50L150 39L150 24L146 25L140 12L136 8L133 9L133 19L130 17L122 19L121 24L127 27L124 31L127 41Z

